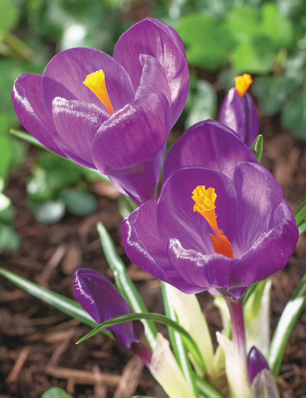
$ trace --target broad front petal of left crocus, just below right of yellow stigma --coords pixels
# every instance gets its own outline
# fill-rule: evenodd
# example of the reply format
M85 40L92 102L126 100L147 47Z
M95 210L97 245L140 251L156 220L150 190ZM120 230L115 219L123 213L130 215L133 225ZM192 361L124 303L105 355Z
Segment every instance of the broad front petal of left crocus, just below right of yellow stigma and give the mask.
M136 174L163 148L171 125L166 96L150 93L126 105L103 123L92 144L102 174Z

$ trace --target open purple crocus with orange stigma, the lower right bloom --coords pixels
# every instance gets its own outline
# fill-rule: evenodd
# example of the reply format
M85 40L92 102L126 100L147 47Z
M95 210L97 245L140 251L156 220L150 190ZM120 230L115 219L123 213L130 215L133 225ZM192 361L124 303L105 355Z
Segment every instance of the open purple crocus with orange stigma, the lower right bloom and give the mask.
M160 198L123 220L125 252L183 293L236 295L286 265L296 222L280 185L233 131L206 121L182 139L166 160Z

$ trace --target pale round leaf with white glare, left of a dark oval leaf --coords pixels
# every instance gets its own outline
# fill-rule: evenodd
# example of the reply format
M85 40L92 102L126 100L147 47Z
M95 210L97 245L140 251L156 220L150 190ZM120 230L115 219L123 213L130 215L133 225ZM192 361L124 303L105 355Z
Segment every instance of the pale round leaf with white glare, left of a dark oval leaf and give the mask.
M35 202L28 201L29 210L33 213L36 221L42 224L55 224L64 217L66 206L63 201Z

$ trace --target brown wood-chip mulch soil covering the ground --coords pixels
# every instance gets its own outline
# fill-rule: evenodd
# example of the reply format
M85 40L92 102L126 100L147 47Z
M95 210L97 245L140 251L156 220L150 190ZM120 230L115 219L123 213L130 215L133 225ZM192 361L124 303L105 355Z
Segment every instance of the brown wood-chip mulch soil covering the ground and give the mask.
M214 78L209 75L210 81ZM218 96L220 105L224 97L222 90ZM260 109L258 111L260 133L264 137L261 163L273 172L294 211L306 197L306 143L285 131L277 117L267 118ZM175 142L182 132L180 129L172 131L169 141ZM72 275L76 268L90 267L111 278L96 230L96 222L102 221L149 310L162 313L160 282L135 269L124 253L116 191L107 189L103 183L92 185L90 190L98 200L97 213L87 218L66 214L60 222L51 226L39 224L26 210L25 181L37 152L37 148L29 147L24 164L10 176L10 185L5 193L16 206L14 226L22 243L16 253L2 252L0 265L74 298ZM306 237L301 236L284 270L272 277L272 332L306 270L305 260ZM51 386L66 388L77 398L111 398L134 392L156 398L166 397L149 371L146 368L142 370L142 365L131 352L102 335L75 345L81 336L89 332L89 328L16 289L3 278L0 278L0 286L0 398L38 398ZM215 336L215 332L222 328L218 310L207 292L200 293L198 297L212 336ZM166 328L158 327L167 336ZM306 311L302 313L287 345L278 379L283 398L306 398L305 336ZM78 370L83 372L78 373ZM125 386L123 390L118 389L120 375L125 375L125 381L133 378L137 385L126 385L130 388L127 390ZM121 382L121 387L123 384Z

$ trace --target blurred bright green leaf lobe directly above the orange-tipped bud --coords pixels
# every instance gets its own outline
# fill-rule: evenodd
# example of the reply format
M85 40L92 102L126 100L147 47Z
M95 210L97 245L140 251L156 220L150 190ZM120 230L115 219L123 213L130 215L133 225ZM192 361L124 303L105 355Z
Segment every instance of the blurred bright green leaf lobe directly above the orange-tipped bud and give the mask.
M273 64L273 49L265 37L241 42L233 53L233 66L240 72L265 74Z

